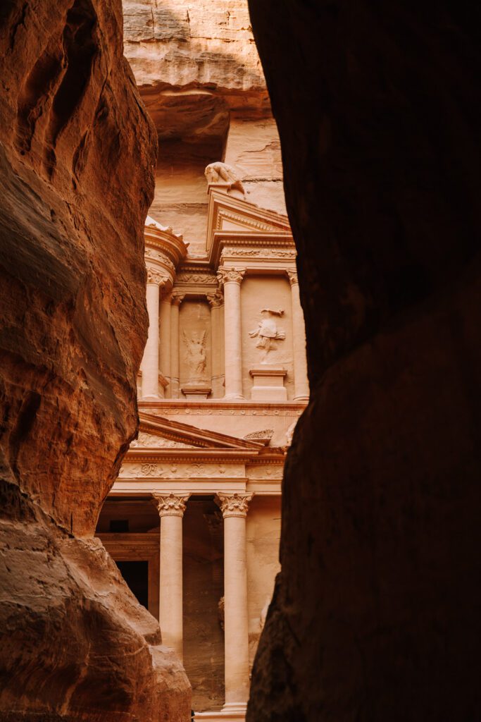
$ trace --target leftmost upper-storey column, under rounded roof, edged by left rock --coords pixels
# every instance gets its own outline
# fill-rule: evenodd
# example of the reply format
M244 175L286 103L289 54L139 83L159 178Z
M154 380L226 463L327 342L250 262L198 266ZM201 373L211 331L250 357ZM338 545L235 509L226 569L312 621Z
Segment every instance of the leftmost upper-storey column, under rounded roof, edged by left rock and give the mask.
M142 399L159 399L159 295L168 278L147 266L146 303L149 335L142 359Z

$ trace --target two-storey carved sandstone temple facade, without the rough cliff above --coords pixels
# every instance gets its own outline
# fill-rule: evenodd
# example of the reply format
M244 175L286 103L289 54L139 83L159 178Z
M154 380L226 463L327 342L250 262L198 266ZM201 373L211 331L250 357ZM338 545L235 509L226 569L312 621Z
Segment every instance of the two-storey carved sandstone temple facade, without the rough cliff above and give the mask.
M97 536L183 660L196 719L242 719L278 572L286 449L309 396L285 215L206 168L205 253L148 217L140 432Z

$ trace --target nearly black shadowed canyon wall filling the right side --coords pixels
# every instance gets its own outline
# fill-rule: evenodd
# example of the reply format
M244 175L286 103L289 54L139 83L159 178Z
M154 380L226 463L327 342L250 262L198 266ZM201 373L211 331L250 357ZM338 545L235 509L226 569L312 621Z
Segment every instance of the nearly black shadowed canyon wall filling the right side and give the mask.
M250 722L475 719L477 11L251 0L311 401Z

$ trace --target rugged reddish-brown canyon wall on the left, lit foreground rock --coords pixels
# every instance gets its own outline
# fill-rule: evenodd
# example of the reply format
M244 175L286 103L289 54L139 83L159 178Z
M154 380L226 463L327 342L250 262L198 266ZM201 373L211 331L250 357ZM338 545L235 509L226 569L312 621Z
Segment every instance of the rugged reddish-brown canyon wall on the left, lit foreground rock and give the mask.
M156 134L120 3L0 10L0 716L169 720L188 683L92 539L136 435Z

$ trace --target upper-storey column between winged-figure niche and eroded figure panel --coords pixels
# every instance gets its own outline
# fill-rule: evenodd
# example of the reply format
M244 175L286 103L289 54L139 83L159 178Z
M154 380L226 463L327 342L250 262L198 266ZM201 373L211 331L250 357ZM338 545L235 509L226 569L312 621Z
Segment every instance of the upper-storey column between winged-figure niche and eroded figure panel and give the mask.
M224 284L224 352L226 399L244 399L242 393L242 336L240 284L245 269L219 269L217 277Z

